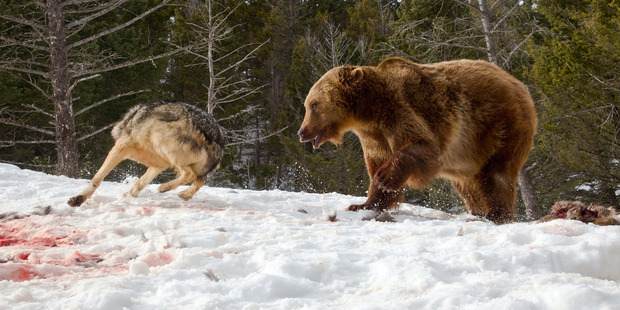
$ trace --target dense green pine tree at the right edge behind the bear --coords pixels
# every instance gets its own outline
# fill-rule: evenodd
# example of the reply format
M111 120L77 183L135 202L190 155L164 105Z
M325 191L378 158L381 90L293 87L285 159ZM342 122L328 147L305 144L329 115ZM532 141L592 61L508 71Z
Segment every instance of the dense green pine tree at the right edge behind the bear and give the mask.
M546 32L529 51L541 96L545 199L620 204L620 5L538 1ZM559 172L559 173L558 173Z

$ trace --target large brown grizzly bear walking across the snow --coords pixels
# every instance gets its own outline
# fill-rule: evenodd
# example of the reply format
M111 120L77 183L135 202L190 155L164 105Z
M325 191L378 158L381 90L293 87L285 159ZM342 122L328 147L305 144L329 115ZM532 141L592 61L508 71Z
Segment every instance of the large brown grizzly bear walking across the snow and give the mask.
M346 210L398 206L404 187L446 178L469 211L512 221L519 170L536 132L534 102L519 80L486 61L329 70L310 89L298 135L315 149L360 139L370 177L368 199Z

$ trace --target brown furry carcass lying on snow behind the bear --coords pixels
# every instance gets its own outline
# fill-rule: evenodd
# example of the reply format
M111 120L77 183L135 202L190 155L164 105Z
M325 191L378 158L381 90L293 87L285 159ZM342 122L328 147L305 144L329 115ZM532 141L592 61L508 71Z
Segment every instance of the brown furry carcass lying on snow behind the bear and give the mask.
M577 220L584 223L594 223L596 225L620 225L616 220L616 208L586 206L581 201L558 201L548 215L538 220L538 222L548 222L555 219Z

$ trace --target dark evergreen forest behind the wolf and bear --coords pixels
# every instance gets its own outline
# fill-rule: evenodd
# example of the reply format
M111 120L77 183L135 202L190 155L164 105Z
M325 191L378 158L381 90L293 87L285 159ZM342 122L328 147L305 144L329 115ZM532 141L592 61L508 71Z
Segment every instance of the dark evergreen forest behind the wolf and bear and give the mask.
M212 186L365 196L354 135L315 151L296 131L324 72L390 56L509 71L536 102L525 171L542 211L557 200L620 204L613 0L1 0L0 161L90 178L130 106L183 101L231 138ZM143 171L126 161L108 180ZM463 208L442 180L407 201Z

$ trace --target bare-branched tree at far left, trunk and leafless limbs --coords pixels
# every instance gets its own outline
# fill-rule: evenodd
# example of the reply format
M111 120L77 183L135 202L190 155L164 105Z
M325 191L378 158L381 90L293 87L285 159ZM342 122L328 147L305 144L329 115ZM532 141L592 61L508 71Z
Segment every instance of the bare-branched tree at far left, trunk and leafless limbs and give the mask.
M50 144L56 148L56 171L71 177L79 176L78 142L105 129L101 128L78 136L80 123L77 115L112 99L136 93L118 93L97 102L76 102L76 89L84 82L102 77L106 72L127 68L140 63L154 62L176 51L163 52L143 58L134 54L116 53L120 50L140 50L118 44L119 49L102 49L110 38L129 26L144 21L153 12L171 0L129 3L116 0L101 4L95 0L35 0L26 3L3 1L0 3L0 69L19 75L46 98L39 105L26 105L25 109L4 109L0 121L6 125L31 131L34 138L17 140L3 137L4 145ZM119 13L124 9L125 14ZM139 10L135 10L139 9ZM142 9L142 10L140 10ZM115 12L117 13L114 15ZM122 20L114 21L114 17ZM103 27L102 27L103 26ZM134 31L144 28L132 28ZM136 33L133 34L136 36ZM138 34L136 37L150 39ZM153 38L156 39L156 38ZM129 60L125 57L128 57ZM85 100L82 100L84 102ZM45 122L31 125L28 114L38 114ZM78 124L76 126L76 120ZM49 126L49 124L52 126Z

